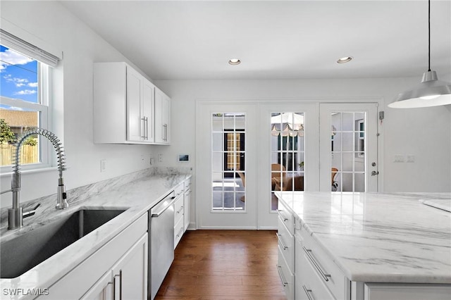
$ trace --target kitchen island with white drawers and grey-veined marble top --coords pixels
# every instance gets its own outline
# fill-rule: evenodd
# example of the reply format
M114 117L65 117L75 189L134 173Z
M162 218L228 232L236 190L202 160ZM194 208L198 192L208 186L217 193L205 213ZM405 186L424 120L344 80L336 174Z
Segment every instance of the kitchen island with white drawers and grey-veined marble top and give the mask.
M423 202L446 203L450 193L276 196L279 265L289 299L449 299L451 213Z

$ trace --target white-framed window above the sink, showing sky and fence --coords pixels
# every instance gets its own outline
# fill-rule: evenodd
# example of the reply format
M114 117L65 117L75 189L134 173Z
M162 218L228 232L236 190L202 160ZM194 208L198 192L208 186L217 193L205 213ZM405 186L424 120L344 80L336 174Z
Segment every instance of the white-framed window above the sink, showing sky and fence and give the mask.
M0 166L6 173L18 137L31 127L49 129L50 65L56 66L58 58L4 30L0 38ZM27 139L20 149L20 164L24 169L48 165L47 143L38 136Z

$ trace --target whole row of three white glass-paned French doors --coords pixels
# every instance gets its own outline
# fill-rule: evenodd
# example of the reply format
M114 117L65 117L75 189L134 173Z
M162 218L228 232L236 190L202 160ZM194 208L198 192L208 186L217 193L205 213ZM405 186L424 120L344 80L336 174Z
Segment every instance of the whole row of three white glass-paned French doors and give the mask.
M377 105L197 104L197 228L273 229L277 191L377 192Z

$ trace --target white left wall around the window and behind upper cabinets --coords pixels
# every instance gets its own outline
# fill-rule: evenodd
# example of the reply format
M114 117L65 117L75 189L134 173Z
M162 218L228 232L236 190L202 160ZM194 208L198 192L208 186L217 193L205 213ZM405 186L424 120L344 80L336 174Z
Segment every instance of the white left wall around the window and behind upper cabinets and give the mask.
M56 1L1 1L1 18L63 51L63 63L56 70L56 80L61 82L56 87L61 92L57 92L56 115L63 113L64 121L63 125L57 122L54 131L63 132L69 168L63 174L66 188L149 168L152 146L92 142L92 64L130 61ZM107 163L104 173L100 173L101 159ZM56 170L23 173L21 200L54 194L57 178ZM10 177L1 176L1 190L9 188ZM1 205L11 206L11 193L2 195Z

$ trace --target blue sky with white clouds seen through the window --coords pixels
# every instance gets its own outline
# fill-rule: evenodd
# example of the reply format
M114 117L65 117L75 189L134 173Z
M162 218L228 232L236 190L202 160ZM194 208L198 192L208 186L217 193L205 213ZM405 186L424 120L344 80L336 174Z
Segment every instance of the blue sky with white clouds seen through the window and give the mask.
M37 103L37 61L0 45L0 94Z

